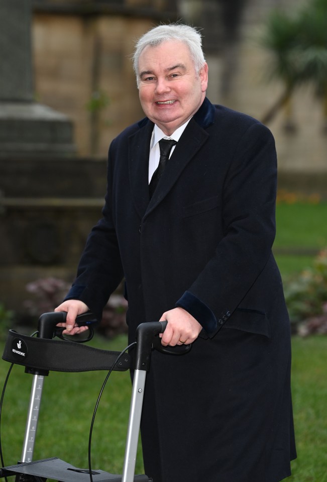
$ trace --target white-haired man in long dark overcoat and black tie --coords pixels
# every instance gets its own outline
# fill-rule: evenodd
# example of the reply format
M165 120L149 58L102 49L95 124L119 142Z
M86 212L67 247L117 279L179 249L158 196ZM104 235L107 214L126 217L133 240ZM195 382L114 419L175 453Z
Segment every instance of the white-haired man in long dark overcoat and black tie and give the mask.
M167 320L164 345L193 343L185 356L152 356L141 435L154 482L277 482L295 446L290 327L271 253L273 137L206 99L193 28L152 29L134 67L146 118L111 144L103 218L57 310L67 332L83 331L76 315L100 319L125 278L131 341L140 323Z

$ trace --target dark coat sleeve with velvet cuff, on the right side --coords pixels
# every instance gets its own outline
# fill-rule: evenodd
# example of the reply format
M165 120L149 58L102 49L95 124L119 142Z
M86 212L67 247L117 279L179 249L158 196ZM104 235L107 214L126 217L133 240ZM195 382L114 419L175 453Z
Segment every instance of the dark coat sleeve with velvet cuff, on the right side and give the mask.
M273 136L265 126L254 123L239 140L225 178L224 236L176 303L210 336L233 314L271 256L276 185Z

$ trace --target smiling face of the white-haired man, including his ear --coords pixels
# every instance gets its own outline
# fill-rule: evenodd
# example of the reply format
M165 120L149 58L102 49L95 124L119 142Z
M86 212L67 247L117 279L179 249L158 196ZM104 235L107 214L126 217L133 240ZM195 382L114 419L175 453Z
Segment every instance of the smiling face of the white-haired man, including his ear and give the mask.
M199 109L205 97L207 64L196 72L184 42L146 47L139 59L139 95L145 115L171 135Z

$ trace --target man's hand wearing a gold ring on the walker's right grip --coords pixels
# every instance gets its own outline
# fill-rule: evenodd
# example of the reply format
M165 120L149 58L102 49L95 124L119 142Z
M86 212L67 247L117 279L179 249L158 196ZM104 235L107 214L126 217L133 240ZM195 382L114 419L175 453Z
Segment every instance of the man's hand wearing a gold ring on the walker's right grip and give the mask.
M189 345L196 340L202 330L199 322L183 308L166 311L159 321L164 320L168 322L161 336L161 343L164 346Z

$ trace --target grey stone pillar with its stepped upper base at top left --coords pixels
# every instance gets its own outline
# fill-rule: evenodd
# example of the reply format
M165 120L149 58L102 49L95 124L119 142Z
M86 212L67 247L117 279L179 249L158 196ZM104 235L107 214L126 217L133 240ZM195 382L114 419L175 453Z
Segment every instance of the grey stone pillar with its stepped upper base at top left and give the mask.
M31 0L0 2L0 157L68 155L70 120L33 102Z

